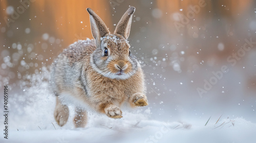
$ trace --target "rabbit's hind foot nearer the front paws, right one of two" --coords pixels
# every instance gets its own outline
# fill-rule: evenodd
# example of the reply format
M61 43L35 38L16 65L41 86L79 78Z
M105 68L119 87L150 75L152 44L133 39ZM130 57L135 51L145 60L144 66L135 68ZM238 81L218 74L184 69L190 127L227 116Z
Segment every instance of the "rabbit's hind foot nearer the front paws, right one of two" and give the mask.
M86 110L76 108L76 114L74 117L74 124L76 128L84 128L87 124L87 112Z

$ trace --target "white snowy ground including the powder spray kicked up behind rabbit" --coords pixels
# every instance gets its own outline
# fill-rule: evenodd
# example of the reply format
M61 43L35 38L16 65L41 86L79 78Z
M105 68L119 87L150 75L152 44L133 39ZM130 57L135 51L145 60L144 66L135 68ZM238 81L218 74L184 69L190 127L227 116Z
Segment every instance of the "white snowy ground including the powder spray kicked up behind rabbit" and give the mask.
M256 141L255 122L242 117L211 116L208 123L209 116L187 118L183 122L170 121L157 117L152 106L123 109L123 118L119 120L89 112L87 127L79 129L73 127L71 107L67 125L59 127L53 118L55 98L48 88L48 72L43 68L42 74L27 77L32 86L10 97L9 139L1 137L0 142Z

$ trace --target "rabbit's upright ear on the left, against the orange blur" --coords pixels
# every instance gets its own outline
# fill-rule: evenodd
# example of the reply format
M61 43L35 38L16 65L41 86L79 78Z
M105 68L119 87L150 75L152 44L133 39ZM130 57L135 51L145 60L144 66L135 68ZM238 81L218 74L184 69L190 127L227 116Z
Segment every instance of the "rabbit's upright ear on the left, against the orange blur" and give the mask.
M92 9L87 8L87 11L90 14L93 38L96 40L97 47L100 47L100 37L104 37L106 34L109 34L110 31L106 27L105 23Z

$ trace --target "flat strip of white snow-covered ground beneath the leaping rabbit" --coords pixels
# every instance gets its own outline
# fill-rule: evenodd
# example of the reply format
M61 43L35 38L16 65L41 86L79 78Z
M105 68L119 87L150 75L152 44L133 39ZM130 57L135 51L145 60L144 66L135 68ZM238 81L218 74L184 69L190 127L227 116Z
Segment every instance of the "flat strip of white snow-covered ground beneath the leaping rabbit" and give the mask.
M56 130L53 127L42 130L13 129L10 131L8 142L255 142L256 140L256 125L242 118L235 118L234 126L230 120L222 120L220 123L225 122L225 125L211 123L205 127L141 120L143 118L141 114L125 113L124 115L129 117L119 121L105 120L104 117L97 116L99 118L96 118L95 123L84 129L59 127ZM48 124L50 126L51 123Z

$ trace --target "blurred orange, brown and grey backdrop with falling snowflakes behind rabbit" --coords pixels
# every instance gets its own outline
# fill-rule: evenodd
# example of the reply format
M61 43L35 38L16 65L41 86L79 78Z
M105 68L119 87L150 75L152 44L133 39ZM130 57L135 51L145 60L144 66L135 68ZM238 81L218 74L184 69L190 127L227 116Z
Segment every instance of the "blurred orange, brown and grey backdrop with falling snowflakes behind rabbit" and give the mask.
M1 90L22 94L69 44L93 38L86 8L113 32L129 6L129 41L144 64L152 118L224 114L255 123L253 0L0 0Z

